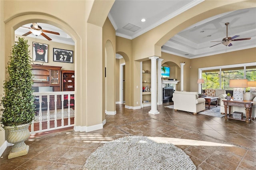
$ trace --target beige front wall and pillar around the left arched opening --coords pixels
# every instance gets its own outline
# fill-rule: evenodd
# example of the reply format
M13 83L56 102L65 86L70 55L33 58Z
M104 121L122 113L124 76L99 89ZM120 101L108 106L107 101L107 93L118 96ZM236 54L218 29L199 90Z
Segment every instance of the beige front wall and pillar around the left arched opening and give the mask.
M102 128L102 26L114 1L0 1L0 87L11 46L14 44L14 30L32 23L42 22L67 32L75 41L74 70L76 72L76 130ZM44 6L44 8L34 8ZM53 8L58 6L58 8ZM48 10L45 10L48 9ZM72 12L63 12L69 9ZM78 17L79 16L79 17ZM99 17L100 16L100 17ZM113 36L115 40L115 36ZM48 43L48 42L47 42ZM114 51L114 50L113 50ZM49 59L50 60L50 59ZM56 62L57 63L57 62ZM49 63L50 64L50 63ZM67 63L68 64L68 63ZM70 63L69 63L70 64ZM65 68L71 69L68 66ZM1 98L3 90L1 88ZM97 102L95 102L97 101ZM99 104L100 103L100 104ZM0 131L0 145L5 141Z

